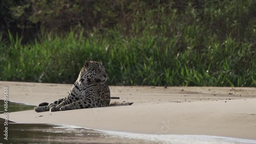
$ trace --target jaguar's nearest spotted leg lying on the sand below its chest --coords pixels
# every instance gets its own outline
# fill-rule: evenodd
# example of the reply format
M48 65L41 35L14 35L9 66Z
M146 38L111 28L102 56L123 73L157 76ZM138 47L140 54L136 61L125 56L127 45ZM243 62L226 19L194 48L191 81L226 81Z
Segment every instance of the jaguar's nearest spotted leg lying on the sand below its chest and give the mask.
M71 104L62 106L60 110L63 111L63 110L72 110L72 109L94 108L94 107L98 107L96 100L93 98L92 99L85 98L85 99L73 102Z

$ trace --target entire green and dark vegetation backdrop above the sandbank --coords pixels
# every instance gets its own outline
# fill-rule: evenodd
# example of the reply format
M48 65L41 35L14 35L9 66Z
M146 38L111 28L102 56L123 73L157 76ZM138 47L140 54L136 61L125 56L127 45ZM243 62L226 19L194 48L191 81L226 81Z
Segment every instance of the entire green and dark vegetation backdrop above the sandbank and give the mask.
M2 1L0 80L256 86L256 1Z

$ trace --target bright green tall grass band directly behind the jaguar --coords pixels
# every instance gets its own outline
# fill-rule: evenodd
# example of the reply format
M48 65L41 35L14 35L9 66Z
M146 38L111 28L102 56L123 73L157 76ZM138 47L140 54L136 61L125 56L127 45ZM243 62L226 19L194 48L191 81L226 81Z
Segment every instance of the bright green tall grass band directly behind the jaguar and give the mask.
M112 34L114 33L111 31ZM53 34L20 44L10 35L2 43L1 80L73 83L85 60L102 61L110 85L255 86L255 49L227 37L211 39L202 51L175 50L174 40L161 37L84 38L72 31L60 38ZM165 46L159 44L165 42Z

